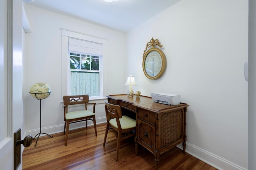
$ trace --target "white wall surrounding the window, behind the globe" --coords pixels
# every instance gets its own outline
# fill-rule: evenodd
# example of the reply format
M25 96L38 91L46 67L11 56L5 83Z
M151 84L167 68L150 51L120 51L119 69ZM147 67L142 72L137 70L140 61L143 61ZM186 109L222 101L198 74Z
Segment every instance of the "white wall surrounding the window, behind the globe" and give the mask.
M40 127L40 101L29 94L36 82L45 82L52 89L50 96L42 100L42 132L63 131L63 107L61 99L61 29L69 29L108 39L107 55L104 56L104 96L125 93L124 38L123 33L98 27L83 21L55 14L24 4L32 33L24 37L24 117L27 134L35 136ZM104 100L96 101L96 123L106 121ZM89 121L92 123L91 121ZM84 123L84 122L83 122ZM81 123L82 124L82 123ZM72 129L75 124L72 124ZM64 141L63 141L64 142Z

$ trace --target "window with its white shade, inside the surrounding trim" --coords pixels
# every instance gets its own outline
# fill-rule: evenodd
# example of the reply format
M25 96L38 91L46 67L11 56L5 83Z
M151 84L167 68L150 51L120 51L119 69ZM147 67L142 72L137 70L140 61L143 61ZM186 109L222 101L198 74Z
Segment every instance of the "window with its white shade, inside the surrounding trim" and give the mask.
M103 45L100 43L68 38L70 95L100 96L102 51Z

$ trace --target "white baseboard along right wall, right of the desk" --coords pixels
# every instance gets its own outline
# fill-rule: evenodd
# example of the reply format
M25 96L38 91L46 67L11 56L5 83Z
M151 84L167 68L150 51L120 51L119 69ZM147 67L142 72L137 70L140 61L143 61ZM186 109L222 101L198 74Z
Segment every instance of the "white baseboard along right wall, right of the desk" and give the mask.
M182 144L178 145L177 147L182 149ZM217 168L218 170L247 170L247 168L234 164L233 162L196 147L188 142L186 142L186 152L209 164L210 166Z

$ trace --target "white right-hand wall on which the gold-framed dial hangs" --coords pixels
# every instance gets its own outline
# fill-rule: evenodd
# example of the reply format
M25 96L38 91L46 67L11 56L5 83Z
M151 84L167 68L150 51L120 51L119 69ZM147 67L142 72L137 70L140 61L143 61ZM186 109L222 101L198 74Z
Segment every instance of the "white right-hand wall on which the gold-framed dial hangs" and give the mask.
M150 39L159 39L166 70L157 80L142 70ZM247 169L248 2L182 0L126 35L127 74L142 95L181 94L187 112L187 149L219 169ZM136 43L134 43L136 42Z

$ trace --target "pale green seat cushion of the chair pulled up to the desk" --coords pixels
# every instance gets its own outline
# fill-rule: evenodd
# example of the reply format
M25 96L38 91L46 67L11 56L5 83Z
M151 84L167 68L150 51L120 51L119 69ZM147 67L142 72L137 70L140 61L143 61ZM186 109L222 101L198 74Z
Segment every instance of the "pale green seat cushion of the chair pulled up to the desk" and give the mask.
M136 127L136 120L128 117L128 116L122 116L122 118L119 119L122 129L130 129L132 127ZM117 127L116 119L110 119L109 123Z

